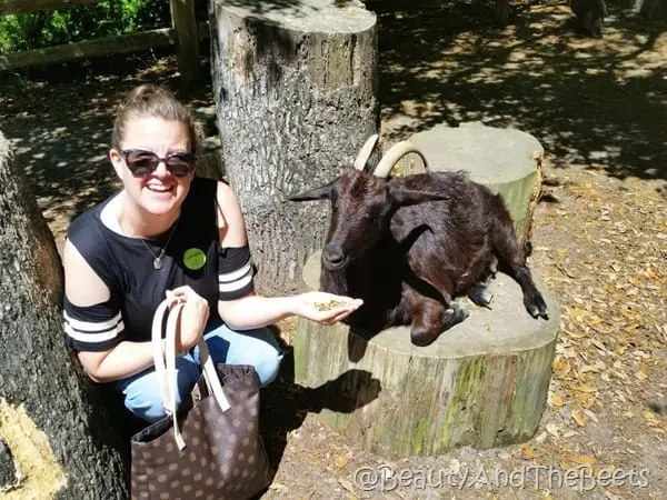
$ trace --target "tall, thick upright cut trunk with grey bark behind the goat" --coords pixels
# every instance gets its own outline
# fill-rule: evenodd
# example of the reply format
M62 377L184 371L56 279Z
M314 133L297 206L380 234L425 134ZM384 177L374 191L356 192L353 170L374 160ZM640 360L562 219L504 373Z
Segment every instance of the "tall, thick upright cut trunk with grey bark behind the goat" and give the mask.
M326 203L290 203L350 168L377 133L376 17L360 2L210 2L218 123L258 288L298 288L325 239Z

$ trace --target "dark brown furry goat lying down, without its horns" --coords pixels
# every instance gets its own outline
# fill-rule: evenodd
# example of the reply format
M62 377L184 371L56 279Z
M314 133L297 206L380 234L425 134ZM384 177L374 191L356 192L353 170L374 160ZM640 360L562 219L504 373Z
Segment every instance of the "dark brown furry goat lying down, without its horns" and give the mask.
M527 311L547 317L502 199L462 172L387 180L351 170L290 199L331 201L320 284L364 299L355 327L411 323L412 342L427 346L467 317L454 297L489 306L497 266L521 286Z

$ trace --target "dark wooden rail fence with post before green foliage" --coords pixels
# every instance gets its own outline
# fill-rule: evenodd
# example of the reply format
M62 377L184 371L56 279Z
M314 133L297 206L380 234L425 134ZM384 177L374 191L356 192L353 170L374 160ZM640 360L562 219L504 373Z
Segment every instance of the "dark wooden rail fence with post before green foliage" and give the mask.
M56 10L100 1L102 0L0 0L0 16ZM199 78L199 41L208 37L208 24L197 23L195 0L169 0L169 3L171 27L0 54L0 71L175 46L181 79L189 83Z

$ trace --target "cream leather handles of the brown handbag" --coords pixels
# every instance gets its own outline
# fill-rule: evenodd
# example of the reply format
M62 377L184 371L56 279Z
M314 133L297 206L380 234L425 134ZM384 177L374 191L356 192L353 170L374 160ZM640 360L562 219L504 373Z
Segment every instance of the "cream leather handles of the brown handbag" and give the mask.
M151 330L153 364L156 368L158 387L160 388L160 393L162 396L162 407L165 408L166 413L173 419L173 437L179 450L186 448L186 442L181 436L176 416L176 394L178 391L176 373L176 330L182 308L182 302L175 303L175 300L170 298L162 300L153 316ZM161 332L165 313L168 313L169 316L167 317L166 352L162 352ZM213 396L220 409L227 411L229 410L230 404L222 390L222 384L220 383L216 366L206 341L203 340L203 336L200 337L197 346L199 347L201 371L209 388L209 392ZM167 361L166 363L165 360Z

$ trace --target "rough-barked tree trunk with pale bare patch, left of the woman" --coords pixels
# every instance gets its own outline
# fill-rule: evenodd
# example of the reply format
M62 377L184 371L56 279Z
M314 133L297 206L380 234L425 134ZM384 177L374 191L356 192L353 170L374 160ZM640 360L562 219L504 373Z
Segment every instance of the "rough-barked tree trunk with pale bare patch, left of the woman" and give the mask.
M26 474L16 498L127 498L122 446L64 343L53 237L1 132L0 186L0 438Z

